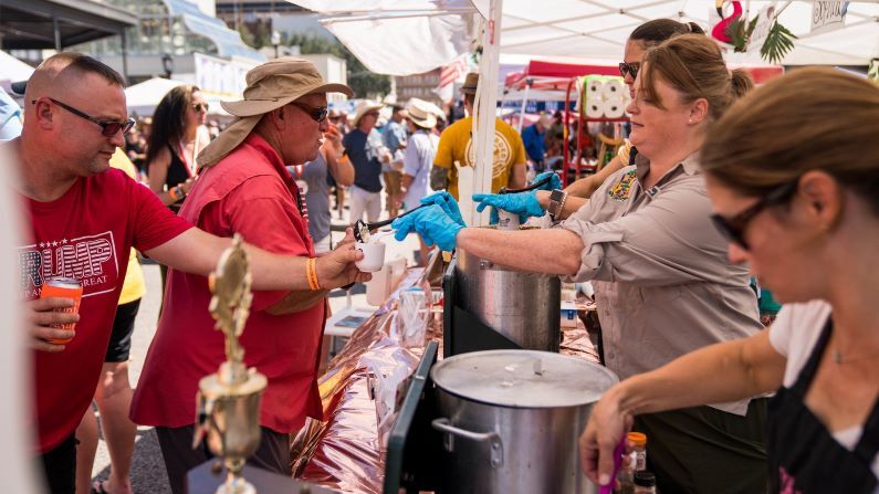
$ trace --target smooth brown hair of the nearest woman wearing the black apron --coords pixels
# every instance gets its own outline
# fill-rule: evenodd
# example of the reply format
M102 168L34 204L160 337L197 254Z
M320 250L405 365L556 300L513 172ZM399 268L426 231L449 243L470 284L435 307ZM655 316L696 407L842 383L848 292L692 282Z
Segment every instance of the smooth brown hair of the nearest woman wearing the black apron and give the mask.
M745 196L822 170L879 216L879 86L799 69L735 103L708 133L702 169Z

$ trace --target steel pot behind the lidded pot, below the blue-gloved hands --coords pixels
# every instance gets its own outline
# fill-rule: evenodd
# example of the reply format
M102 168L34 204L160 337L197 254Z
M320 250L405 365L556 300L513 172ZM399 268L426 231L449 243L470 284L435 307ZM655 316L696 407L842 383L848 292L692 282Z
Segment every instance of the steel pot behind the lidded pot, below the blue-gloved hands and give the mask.
M460 305L525 349L558 351L562 281L512 271L458 249Z

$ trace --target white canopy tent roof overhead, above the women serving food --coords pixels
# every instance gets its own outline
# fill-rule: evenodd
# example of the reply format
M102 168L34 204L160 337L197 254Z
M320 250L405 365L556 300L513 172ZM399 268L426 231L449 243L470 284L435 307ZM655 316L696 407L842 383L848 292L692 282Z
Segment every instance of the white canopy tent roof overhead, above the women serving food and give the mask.
M468 51L472 17L477 9L486 14L489 6L489 0L289 1L322 13L324 25L367 67L394 75L426 72ZM750 4L753 18L771 2L742 3ZM799 36L784 64L866 65L879 56L879 2L852 1L845 28L816 35L808 32L812 4L793 1L781 14L782 24ZM708 28L713 9L708 0L504 0L501 52L617 60L638 24L672 18ZM760 54L728 59L758 62Z

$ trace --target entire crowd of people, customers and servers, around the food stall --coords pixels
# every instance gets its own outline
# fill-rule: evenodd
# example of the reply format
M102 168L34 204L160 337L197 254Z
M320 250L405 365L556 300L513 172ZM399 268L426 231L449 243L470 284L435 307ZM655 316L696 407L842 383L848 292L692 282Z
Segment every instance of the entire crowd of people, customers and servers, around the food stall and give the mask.
M115 71L76 53L45 60L23 90L21 135L4 146L30 233L20 278L50 491L132 492L135 423L156 428L175 493L211 458L191 446L193 397L226 359L207 275L233 234L253 275L245 364L269 381L249 462L291 474L290 434L322 418L327 292L369 280L350 229L332 239L335 196L349 223L378 220L383 202L391 218L426 206L393 223L398 240L418 234L422 261L433 246L461 248L592 281L603 364L621 379L580 438L595 482L614 481L613 451L636 430L650 438L661 492L879 492L879 87L804 69L754 88L698 25L667 19L632 31L620 73L629 139L564 190L544 171L567 145L561 115L521 135L495 122L491 191L473 196L478 210L553 223L502 231L468 227L457 204L459 170L475 162L479 74L461 88L465 118L444 127L444 115L412 99L379 129L383 104L331 112L327 93L350 88L281 57L248 73L241 101L222 103L236 118L222 132L208 128L200 90L184 85L129 134ZM525 187L529 168L546 185L499 193ZM132 390L144 294L135 249L166 265L167 280ZM53 276L83 286L77 314L57 311L69 298L40 297ZM767 328L752 277L785 304ZM61 326L72 323L75 332ZM112 460L94 484L93 400Z

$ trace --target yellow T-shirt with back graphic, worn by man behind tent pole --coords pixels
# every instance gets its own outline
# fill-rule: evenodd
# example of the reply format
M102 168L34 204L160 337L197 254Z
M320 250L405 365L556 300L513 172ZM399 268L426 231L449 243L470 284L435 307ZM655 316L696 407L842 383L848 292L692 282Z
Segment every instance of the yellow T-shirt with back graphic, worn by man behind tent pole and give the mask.
M467 117L450 125L440 135L433 166L449 170L449 193L458 200L458 168L473 166L477 149L470 139L473 117ZM513 127L496 118L494 120L494 159L492 165L491 191L496 193L510 183L513 166L525 162L525 145Z

